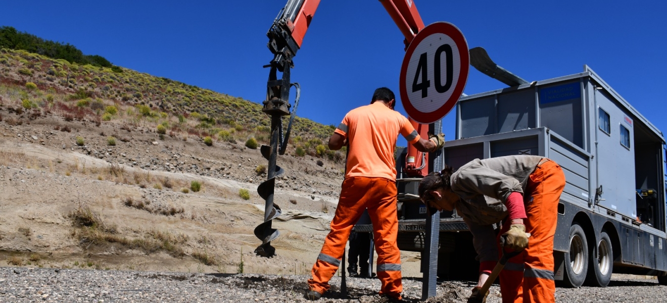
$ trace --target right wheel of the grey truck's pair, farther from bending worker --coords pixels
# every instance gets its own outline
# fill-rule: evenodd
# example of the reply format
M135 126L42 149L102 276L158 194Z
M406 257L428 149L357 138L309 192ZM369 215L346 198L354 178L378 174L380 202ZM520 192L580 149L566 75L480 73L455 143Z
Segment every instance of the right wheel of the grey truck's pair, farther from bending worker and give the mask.
M612 280L612 270L614 270L614 253L612 252L612 240L606 232L600 232L600 242L598 242L598 253L590 253L588 258L588 274L586 275L586 284L595 287L606 287Z

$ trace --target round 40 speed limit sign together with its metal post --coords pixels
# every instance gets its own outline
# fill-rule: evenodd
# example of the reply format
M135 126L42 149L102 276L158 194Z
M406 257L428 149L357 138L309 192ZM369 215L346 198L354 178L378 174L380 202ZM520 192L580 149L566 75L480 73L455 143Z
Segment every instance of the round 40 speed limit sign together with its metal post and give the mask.
M437 22L420 31L410 43L400 75L401 102L411 119L442 131L442 119L458 102L466 87L470 54L461 31L451 23ZM442 152L434 154L431 171L444 168ZM426 218L422 252L422 300L436 295L440 212Z

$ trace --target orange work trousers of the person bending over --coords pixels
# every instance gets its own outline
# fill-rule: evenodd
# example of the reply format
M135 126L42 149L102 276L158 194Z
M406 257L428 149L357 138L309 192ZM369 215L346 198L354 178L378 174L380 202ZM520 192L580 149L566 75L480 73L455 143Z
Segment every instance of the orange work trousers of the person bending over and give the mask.
M524 192L524 224L530 233L526 250L510 258L500 272L502 302L555 302L554 234L558 201L565 188L565 175L556 162L546 159L530 174ZM498 236L510 228L505 222ZM498 248L498 251L502 251Z

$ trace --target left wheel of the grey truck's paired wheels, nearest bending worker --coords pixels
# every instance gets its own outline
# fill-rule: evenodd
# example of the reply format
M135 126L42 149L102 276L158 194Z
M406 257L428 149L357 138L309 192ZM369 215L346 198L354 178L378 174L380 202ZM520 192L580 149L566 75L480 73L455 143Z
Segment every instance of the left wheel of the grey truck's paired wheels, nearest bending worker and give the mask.
M588 244L586 234L579 224L574 222L570 227L570 251L565 254L565 275L563 283L566 287L580 287L586 280L588 271Z

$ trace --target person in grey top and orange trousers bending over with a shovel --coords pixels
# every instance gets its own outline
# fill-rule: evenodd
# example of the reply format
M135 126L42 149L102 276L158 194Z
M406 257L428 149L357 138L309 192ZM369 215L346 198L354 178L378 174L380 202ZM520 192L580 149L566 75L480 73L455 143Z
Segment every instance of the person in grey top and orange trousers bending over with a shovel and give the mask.
M500 272L503 302L554 302L554 233L565 187L560 166L542 156L522 155L475 159L452 170L446 166L424 177L419 194L428 207L456 208L468 224L480 260L473 294L492 272L499 249L525 248ZM496 238L493 224L501 220Z

